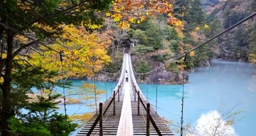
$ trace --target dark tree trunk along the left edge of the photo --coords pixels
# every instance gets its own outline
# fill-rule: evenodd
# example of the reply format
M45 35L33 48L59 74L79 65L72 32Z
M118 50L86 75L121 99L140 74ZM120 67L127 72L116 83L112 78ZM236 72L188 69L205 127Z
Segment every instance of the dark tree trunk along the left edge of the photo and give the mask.
M12 70L12 50L13 50L13 34L8 33L7 35L7 58L5 64L5 75L4 75L4 87L3 87L3 100L2 100L2 110L0 117L0 126L2 135L9 135L7 120L12 116L11 115L11 70Z

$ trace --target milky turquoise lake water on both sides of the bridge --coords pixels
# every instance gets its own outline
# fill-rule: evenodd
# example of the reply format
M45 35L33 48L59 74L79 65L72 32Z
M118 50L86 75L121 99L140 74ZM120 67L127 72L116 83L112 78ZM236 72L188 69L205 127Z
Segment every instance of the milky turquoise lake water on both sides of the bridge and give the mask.
M209 67L197 67L189 74L189 82L184 85L184 123L193 126L209 112L217 111L220 115L234 109L241 111L232 129L236 135L256 136L256 69L248 63L213 61ZM74 79L72 89L79 90L85 81L95 84L99 90L107 90L107 97L115 88L114 82L87 81ZM182 85L140 84L140 89L153 105L156 105L156 88L158 90L158 114L175 125L180 124ZM59 92L62 89L58 88ZM78 96L72 96L78 97ZM106 99L102 95L101 102ZM60 113L63 113L63 105ZM68 104L67 114L92 112L85 104ZM214 112L213 112L214 113ZM175 126L173 126L175 128Z

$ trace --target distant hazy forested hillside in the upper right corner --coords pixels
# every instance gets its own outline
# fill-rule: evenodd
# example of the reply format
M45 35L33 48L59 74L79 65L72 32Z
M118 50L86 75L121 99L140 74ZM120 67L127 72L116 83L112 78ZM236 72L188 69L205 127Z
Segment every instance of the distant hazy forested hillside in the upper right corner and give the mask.
M255 12L255 5L256 2L253 0L223 1L208 12L207 21L215 23L217 28L227 29ZM255 63L255 25L254 17L218 38L219 49L216 50L216 57L224 60Z

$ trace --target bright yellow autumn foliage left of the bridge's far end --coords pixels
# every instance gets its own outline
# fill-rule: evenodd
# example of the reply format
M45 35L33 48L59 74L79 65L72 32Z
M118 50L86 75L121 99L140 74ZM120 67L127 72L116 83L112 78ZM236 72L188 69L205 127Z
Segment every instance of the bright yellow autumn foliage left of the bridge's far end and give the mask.
M62 65L66 77L90 76L111 61L106 54L110 43L107 35L97 32L90 34L84 28L66 25L60 38L50 48L42 46L40 50L44 52L43 55L34 52L30 61L33 65L59 71L61 62L57 51L62 51Z

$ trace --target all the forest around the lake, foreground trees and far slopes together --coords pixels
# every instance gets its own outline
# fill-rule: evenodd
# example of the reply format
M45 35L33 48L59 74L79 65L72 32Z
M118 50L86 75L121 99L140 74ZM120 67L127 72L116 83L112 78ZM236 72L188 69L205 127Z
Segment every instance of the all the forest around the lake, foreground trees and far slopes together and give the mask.
M135 71L148 72L252 14L255 5L254 0L1 1L2 135L69 135L77 127L74 119L86 121L92 114L70 118L57 112L66 100L55 87L70 88L66 79L116 80L123 47L131 47ZM255 45L254 17L190 52L186 62L138 80L180 84L181 71L208 66L212 59L255 64ZM92 93L104 91L84 84L79 92L84 100L94 99Z

